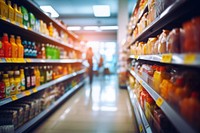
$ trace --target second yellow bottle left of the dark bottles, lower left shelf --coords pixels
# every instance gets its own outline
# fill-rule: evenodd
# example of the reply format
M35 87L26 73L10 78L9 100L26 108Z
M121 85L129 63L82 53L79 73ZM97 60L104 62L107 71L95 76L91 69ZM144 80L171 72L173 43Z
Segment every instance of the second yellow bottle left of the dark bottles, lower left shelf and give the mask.
M16 90L15 80L14 80L14 71L9 70L8 76L9 76L9 82L10 82L10 95L16 95L17 90Z

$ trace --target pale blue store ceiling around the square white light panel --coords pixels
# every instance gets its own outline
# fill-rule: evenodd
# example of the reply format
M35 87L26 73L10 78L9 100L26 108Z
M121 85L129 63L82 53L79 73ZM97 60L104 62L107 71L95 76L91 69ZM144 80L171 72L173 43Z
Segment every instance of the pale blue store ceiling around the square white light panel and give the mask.
M58 13L59 18L68 26L111 26L117 25L118 0L34 0L39 6L51 5ZM128 11L131 14L137 0L128 0ZM109 5L110 17L96 18L93 14L93 5ZM115 35L115 31L104 31L108 35ZM91 31L76 31L78 34L89 35ZM102 37L102 32L97 32ZM98 38L98 37L97 37ZM103 38L102 38L103 39Z

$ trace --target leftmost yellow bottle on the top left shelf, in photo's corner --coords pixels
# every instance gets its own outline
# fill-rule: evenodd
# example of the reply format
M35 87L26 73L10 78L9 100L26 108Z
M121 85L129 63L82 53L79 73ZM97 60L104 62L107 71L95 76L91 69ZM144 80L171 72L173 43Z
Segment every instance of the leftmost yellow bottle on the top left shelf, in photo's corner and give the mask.
M8 18L8 6L5 3L5 0L0 0L0 18Z

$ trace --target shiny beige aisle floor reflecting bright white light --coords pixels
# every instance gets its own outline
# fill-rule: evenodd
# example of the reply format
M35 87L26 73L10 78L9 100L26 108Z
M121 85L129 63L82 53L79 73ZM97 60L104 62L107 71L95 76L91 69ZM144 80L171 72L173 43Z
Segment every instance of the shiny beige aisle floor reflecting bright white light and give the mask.
M128 93L117 76L95 77L68 99L34 133L136 133Z

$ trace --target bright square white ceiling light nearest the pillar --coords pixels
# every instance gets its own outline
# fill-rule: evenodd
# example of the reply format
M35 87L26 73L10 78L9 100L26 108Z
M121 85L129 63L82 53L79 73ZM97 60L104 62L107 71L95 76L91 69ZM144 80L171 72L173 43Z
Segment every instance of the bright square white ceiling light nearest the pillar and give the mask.
M95 17L110 17L110 6L94 5L93 12Z

